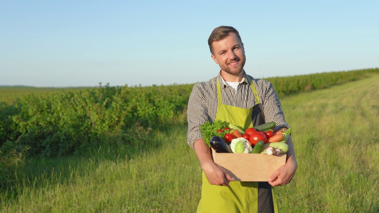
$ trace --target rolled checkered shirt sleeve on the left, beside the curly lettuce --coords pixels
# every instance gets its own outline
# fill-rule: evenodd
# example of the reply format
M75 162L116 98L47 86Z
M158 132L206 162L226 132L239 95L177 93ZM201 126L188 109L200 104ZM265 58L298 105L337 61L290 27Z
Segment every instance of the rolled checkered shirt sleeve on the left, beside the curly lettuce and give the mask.
M187 108L187 143L194 149L193 144L198 139L202 139L202 133L200 132L200 125L209 121L207 105L204 94L204 83L197 83L193 86L191 96L188 100Z

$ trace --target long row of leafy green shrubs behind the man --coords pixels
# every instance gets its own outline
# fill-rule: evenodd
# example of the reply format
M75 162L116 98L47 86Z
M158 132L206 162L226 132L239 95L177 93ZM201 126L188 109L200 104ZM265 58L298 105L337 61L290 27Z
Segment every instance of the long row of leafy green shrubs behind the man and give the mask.
M323 89L378 73L379 68L267 78L280 97ZM27 95L0 102L0 150L29 147L30 155L62 156L97 146L110 136L123 137L133 128L159 128L186 121L193 84L170 86L101 86L79 92ZM138 132L138 131L136 131Z

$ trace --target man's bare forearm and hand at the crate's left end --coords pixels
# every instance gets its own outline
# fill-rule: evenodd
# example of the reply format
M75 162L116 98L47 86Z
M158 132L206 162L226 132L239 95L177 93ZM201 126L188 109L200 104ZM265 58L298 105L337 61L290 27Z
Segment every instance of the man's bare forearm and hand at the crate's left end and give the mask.
M228 186L234 178L222 166L212 160L210 148L204 143L204 140L199 139L193 145L208 182L212 185Z

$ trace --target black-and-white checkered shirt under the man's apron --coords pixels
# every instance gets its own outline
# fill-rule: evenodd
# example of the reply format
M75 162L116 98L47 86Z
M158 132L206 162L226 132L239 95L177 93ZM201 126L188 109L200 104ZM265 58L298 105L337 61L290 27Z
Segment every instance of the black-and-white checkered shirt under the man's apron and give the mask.
M192 149L194 149L193 144L195 141L203 138L200 132L200 125L207 121L215 121L218 107L217 79L220 82L222 103L246 109L256 105L253 91L247 80L247 77L250 78L257 90L260 103L262 103L265 123L275 121L276 130L281 127L290 127L284 119L280 101L273 85L263 79L254 79L247 75L245 71L243 72L243 82L238 85L236 92L225 83L221 77L221 71L218 76L211 78L208 82L196 83L193 86L187 109L187 142Z

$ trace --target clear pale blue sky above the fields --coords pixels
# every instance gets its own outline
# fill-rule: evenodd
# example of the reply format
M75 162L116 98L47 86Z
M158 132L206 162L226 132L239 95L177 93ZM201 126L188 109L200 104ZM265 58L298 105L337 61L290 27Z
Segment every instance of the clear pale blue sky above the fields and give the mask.
M218 74L235 27L255 78L379 67L379 1L1 1L0 85L172 85Z

